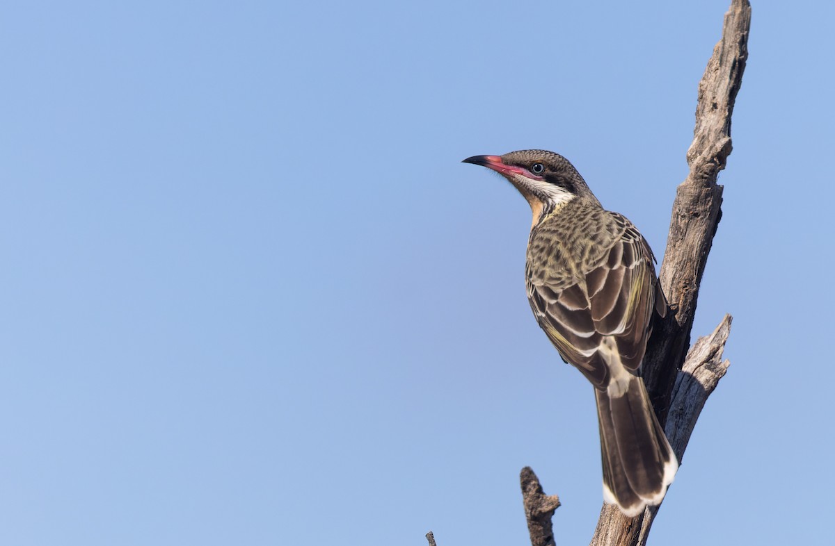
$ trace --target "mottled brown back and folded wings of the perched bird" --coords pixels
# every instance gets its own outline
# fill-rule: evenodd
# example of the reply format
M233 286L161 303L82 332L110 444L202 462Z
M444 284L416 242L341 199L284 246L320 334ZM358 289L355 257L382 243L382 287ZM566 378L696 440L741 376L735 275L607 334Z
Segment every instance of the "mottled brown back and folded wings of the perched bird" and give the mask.
M625 368L644 357L653 303L665 312L653 256L629 220L596 200L574 198L531 230L525 271L539 325L566 362L595 387L608 384L600 353L584 355L613 336Z

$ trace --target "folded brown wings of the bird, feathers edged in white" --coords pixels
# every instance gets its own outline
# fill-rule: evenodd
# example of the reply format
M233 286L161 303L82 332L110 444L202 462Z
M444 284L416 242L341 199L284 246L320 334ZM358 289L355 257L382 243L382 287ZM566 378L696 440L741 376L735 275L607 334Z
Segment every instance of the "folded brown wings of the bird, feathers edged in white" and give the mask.
M609 381L605 350L613 339L620 361L635 371L644 358L650 318L657 298L654 257L638 230L620 214L612 215L620 236L564 288L528 275L531 308L560 355L596 386ZM656 295L656 293L660 295Z

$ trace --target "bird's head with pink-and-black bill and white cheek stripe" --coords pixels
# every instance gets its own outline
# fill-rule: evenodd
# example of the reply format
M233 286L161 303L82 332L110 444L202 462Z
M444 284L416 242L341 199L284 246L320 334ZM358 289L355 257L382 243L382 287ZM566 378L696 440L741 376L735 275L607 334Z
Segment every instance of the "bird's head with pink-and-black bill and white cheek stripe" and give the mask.
M492 168L507 178L528 200L534 222L544 209L553 210L578 197L595 199L574 165L559 153L520 150L502 156L473 156L463 163Z

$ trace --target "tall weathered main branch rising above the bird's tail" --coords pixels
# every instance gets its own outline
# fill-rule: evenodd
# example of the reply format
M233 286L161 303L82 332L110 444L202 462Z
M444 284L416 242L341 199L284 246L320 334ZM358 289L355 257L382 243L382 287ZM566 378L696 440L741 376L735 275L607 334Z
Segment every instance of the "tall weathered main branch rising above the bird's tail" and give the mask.
M751 4L747 0L732 0L731 9L725 14L722 38L699 83L696 129L687 150L690 174L676 191L659 275L676 313L668 314L656 325L642 367L661 423L670 407L676 373L690 345L701 275L721 219L722 187L716 179L731 153L731 113L748 58L750 26Z

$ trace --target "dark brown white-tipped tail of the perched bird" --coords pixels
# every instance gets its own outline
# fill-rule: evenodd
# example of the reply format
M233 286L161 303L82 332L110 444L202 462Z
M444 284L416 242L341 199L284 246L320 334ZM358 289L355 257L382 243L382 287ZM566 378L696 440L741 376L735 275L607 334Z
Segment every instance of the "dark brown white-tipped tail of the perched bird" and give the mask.
M625 393L610 396L595 388L603 455L603 498L634 517L659 504L678 469L644 381L632 376Z

